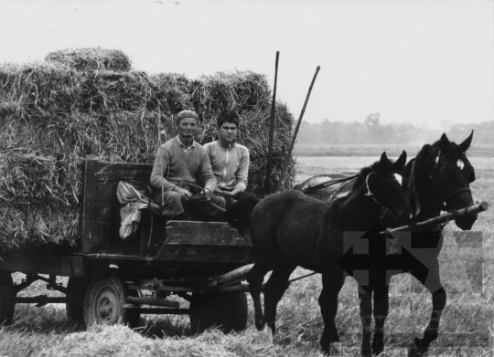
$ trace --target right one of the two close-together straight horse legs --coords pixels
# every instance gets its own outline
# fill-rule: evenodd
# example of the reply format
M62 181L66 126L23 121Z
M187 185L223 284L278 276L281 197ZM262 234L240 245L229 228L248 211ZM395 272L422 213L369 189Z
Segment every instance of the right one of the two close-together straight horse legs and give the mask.
M389 290L391 277L377 278L374 287L374 338L372 353L379 355L384 351L384 322L390 310Z

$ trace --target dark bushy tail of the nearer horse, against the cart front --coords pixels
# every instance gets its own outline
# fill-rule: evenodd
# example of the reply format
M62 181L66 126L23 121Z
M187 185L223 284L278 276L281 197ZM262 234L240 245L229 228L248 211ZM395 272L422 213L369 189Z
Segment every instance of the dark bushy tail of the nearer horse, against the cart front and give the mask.
M252 211L261 198L252 193L241 193L236 197L238 201L231 205L223 218L231 226L237 228L242 236L246 236L249 233Z

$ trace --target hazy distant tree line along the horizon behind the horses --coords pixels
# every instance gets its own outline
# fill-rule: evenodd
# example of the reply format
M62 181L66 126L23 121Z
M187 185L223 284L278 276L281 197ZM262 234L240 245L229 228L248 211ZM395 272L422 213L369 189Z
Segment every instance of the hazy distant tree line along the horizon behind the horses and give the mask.
M476 143L492 143L494 121L479 124L456 124L446 131L452 140L465 139L471 130L475 130ZM310 144L372 144L372 143L413 143L435 142L445 131L426 129L411 123L383 124L380 114L370 114L365 121L328 121L318 123L302 122L297 141L302 145Z

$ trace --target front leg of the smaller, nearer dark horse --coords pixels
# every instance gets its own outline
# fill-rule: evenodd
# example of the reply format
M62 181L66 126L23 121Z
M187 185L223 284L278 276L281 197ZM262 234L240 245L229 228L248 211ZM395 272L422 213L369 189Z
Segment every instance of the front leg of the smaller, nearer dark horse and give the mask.
M319 295L319 306L324 320L324 331L320 341L321 349L327 355L331 352L339 354L341 343L338 339L335 317L338 311L338 294L343 287L345 277L340 268L335 268L328 273L323 273L322 281L323 289Z

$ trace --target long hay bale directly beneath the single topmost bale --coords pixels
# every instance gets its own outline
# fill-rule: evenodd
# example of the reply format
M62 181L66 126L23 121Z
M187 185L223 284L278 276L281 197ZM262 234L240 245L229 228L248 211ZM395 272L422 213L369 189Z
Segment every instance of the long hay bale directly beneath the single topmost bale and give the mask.
M0 100L22 108L18 119L70 113L142 110L157 103L156 85L144 72L77 71L54 62L0 67Z

